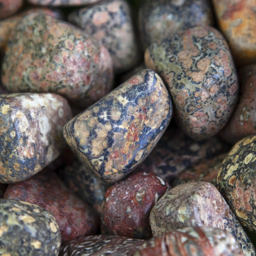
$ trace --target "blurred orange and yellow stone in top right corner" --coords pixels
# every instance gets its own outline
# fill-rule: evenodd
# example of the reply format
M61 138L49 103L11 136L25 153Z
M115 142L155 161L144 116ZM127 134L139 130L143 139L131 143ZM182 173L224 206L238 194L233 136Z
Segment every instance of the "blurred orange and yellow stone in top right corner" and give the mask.
M238 66L255 63L256 1L213 0L213 7L235 63Z

